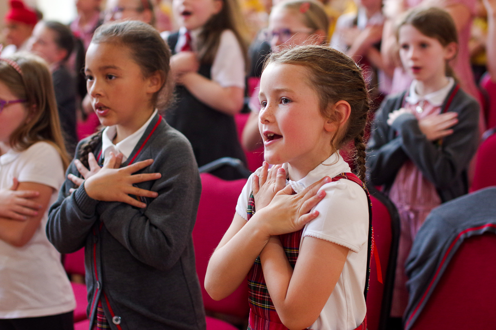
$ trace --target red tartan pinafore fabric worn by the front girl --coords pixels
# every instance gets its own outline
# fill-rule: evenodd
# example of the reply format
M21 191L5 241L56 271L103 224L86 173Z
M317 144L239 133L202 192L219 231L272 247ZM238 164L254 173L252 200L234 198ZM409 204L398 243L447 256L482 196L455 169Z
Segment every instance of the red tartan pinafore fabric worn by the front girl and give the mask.
M367 195L367 189L360 179L352 173L341 173L334 178L332 182L339 179L348 179L361 187L364 187ZM253 193L250 194L248 200L247 218L248 221L255 213L255 200ZM284 252L289 260L289 263L294 268L298 254L300 251L300 242L302 240L303 229L284 235L279 235ZM270 299L267 285L263 277L262 265L260 257L257 257L250 271L248 272L248 304L250 307L248 330L288 330L277 315L272 299ZM365 323L365 327L364 327ZM366 330L367 321L364 320L357 330Z

